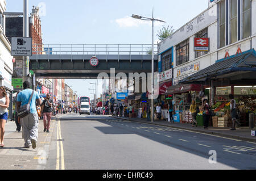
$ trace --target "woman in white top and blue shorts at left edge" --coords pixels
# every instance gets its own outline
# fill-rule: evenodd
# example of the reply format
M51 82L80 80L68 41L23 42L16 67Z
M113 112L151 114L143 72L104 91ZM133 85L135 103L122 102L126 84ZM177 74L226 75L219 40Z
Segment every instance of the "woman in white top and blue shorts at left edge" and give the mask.
M5 124L8 118L8 107L10 99L6 94L5 87L0 87L0 146L3 148L3 137L5 136Z

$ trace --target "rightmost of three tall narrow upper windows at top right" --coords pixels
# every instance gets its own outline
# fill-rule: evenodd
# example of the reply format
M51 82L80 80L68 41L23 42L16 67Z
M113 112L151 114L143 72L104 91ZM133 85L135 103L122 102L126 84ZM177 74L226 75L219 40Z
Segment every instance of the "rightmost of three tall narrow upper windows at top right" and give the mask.
M251 0L242 1L242 37L251 36Z

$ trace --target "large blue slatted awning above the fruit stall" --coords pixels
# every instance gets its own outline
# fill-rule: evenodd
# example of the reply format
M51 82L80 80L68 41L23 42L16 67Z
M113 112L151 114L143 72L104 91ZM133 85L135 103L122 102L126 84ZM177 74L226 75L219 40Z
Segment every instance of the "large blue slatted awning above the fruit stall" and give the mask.
M208 78L218 78L234 72L248 73L256 71L256 52L254 49L228 58L217 60L215 64L179 81L179 83L204 83ZM253 78L253 77L251 77Z

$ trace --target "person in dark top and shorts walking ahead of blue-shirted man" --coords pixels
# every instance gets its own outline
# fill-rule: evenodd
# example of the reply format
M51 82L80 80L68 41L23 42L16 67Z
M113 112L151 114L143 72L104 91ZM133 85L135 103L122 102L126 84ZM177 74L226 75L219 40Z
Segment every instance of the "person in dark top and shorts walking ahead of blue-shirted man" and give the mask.
M42 112L43 112L43 120L44 120L44 132L47 132L47 133L49 133L50 122L52 119L52 104L53 102L50 99L50 95L47 94L46 99L43 100L43 103L41 105Z

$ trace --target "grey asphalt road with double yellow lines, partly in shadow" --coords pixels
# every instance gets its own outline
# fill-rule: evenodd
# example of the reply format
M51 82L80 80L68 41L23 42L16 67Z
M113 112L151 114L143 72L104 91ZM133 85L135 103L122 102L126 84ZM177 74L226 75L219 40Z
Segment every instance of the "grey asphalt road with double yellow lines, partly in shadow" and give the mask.
M109 116L65 114L57 122L46 169L256 169L249 142Z

